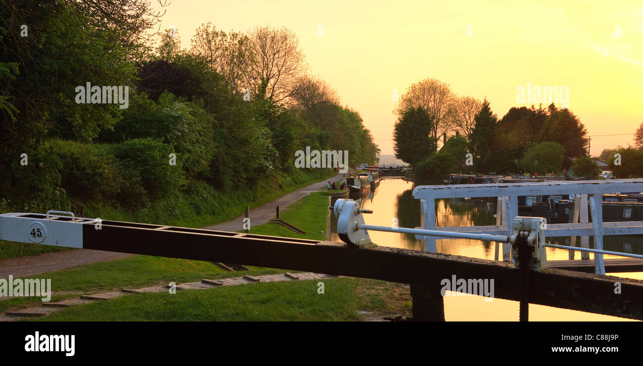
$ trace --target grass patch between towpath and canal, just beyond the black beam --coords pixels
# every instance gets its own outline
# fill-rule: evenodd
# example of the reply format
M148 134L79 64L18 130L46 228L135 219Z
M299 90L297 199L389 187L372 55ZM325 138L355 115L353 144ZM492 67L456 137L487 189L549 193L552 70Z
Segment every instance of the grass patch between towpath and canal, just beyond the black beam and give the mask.
M326 192L314 192L302 197L296 203L282 209L279 218L302 229L305 235L293 232L280 224L267 223L250 228L250 233L280 237L296 237L312 240L326 239L326 221L329 214ZM244 232L240 230L239 232ZM323 233L322 233L323 232Z

